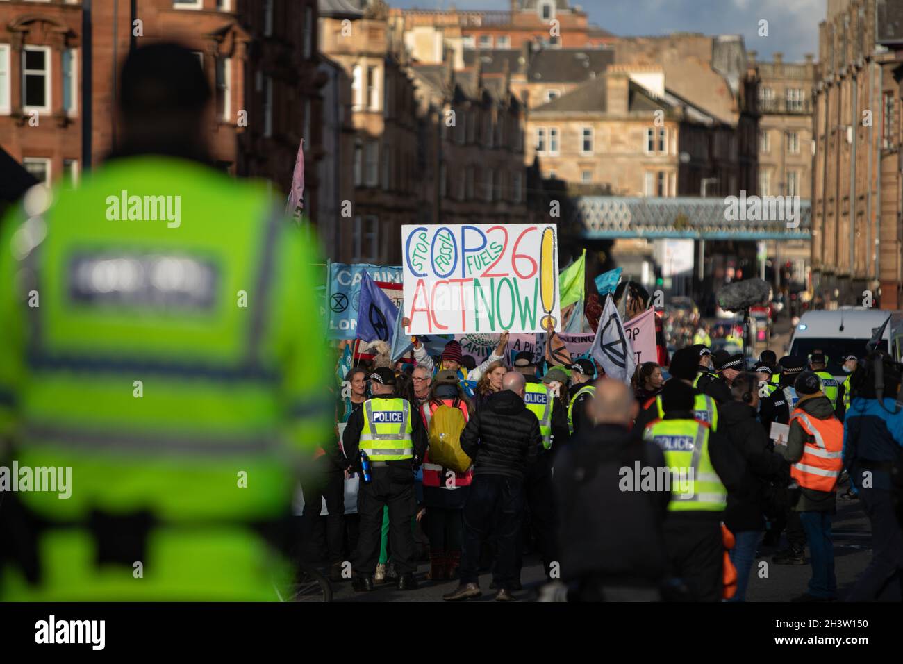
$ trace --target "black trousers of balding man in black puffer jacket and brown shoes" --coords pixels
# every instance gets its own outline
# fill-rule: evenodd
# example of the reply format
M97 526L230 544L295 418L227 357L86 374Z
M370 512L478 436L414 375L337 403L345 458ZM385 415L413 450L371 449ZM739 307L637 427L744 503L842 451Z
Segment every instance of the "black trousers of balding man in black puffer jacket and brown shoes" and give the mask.
M496 564L492 570L498 588L512 590L517 580L517 539L524 508L524 481L505 475L476 475L464 505L462 584L479 583L479 552L490 532L496 536Z

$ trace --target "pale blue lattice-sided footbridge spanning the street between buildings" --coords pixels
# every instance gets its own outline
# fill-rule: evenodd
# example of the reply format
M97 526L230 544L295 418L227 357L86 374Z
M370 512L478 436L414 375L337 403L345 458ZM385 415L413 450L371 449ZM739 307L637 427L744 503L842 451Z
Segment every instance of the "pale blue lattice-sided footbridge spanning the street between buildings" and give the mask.
M586 239L810 239L812 202L791 196L579 196L572 221Z

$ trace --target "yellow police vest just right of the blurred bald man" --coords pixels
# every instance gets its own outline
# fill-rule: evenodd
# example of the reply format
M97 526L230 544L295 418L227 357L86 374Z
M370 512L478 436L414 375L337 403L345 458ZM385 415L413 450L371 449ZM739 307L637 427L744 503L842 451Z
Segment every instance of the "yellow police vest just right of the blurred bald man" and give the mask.
M728 491L709 458L709 426L689 419L655 420L643 437L665 453L671 469L671 511L722 511Z

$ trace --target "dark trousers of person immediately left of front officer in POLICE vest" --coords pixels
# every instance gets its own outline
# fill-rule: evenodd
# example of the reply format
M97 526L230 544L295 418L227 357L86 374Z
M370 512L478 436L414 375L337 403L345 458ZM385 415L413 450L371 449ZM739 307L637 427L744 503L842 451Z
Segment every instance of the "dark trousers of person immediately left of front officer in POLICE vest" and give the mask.
M326 500L326 555L330 563L342 560L345 543L345 473L341 471L311 472L303 478L302 545L307 556L319 560L323 551L320 511Z

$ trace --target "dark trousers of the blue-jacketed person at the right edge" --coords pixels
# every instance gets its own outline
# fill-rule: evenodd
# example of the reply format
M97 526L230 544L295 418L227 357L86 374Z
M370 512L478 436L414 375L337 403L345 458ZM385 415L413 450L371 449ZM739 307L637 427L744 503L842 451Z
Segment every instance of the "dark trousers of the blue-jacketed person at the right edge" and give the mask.
M853 586L848 602L899 602L903 579L903 533L890 491L861 488L859 498L871 522L871 562Z

